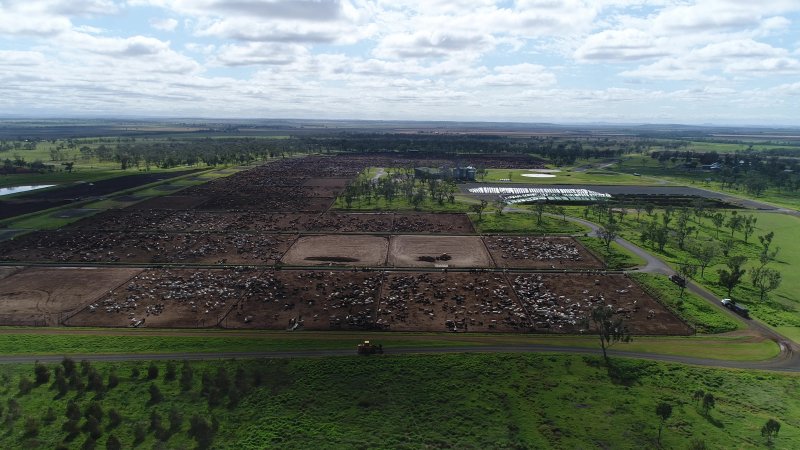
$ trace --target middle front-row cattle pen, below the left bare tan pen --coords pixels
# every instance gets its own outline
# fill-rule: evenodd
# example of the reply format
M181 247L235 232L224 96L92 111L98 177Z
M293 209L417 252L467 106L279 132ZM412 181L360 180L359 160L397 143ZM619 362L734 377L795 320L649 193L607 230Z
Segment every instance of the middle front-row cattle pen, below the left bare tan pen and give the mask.
M227 328L375 329L380 272L276 271L261 277L266 293L239 302Z

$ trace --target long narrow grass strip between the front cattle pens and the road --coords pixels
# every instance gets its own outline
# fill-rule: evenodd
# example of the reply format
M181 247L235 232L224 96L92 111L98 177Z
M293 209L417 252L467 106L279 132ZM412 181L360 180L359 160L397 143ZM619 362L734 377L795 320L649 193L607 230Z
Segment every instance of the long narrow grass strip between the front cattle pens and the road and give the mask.
M387 349L404 347L446 347L487 345L549 345L596 349L595 336L545 334L454 334L358 332L274 332L274 331L205 331L174 330L71 330L60 332L34 329L6 329L0 334L0 354L81 355L107 353L212 353L291 350L354 349L365 338L380 341ZM763 360L777 355L778 347L770 341L749 337L640 336L620 344L620 351L644 351L665 355L693 356L728 360Z

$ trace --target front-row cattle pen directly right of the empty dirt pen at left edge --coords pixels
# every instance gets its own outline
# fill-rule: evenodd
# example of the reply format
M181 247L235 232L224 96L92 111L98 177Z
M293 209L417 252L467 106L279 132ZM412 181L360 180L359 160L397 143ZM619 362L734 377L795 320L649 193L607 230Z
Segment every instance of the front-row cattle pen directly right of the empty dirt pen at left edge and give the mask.
M92 302L70 326L215 327L239 301L263 296L255 269L146 270Z

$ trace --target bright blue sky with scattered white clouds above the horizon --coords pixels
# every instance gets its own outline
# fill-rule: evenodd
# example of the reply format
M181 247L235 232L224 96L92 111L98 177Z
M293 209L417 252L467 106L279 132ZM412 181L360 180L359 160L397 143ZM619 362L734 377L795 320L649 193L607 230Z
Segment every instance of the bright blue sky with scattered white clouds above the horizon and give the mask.
M800 0L0 0L0 116L800 126Z

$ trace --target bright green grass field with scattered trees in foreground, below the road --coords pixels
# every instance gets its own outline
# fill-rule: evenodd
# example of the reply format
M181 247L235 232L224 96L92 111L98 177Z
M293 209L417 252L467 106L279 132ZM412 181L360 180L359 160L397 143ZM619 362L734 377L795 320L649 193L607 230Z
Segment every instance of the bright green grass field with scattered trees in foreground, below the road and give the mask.
M522 354L209 361L172 363L172 381L168 362L153 363L152 379L147 362L93 363L78 365L64 394L50 388L55 365L27 393L18 386L33 380L32 365L3 366L0 445L103 448L113 436L122 448L193 448L198 415L213 448L654 448L655 407L667 402L664 448L763 447L768 418L782 424L775 448L800 446L800 397L787 395L800 388L796 376L612 363ZM107 385L112 373L117 386L89 390L92 377ZM715 397L707 413L692 399L698 389Z

